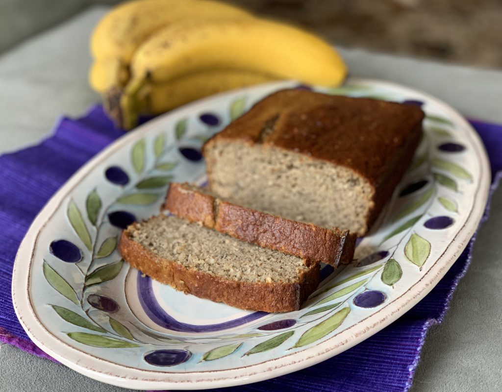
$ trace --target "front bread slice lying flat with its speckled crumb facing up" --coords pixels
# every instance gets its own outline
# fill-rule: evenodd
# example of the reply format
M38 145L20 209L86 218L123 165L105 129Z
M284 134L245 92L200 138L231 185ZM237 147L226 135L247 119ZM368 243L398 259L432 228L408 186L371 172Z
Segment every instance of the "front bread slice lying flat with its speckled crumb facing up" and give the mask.
M133 223L118 249L132 267L159 282L242 309L298 310L319 284L319 263L175 216Z

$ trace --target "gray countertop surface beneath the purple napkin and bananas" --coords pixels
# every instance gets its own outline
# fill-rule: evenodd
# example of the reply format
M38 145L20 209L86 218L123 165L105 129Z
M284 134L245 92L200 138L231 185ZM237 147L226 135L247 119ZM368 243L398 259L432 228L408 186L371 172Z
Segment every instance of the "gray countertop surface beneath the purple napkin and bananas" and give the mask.
M98 97L89 89L90 32L106 8L94 7L0 57L0 153L37 143L61 114L79 115ZM351 75L426 91L471 118L502 122L502 72L340 50ZM502 154L502 152L500 152ZM502 390L502 192L474 245L472 264L444 322L423 347L414 392ZM0 346L0 391L112 391L69 368Z

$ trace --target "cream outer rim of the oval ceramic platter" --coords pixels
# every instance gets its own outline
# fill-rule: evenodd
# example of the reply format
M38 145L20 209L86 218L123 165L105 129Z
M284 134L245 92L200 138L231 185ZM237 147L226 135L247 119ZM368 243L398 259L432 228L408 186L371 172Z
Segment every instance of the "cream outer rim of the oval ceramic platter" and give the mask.
M150 128L165 121L166 117L180 115L180 113L183 112L187 112L188 114L196 110L199 106L203 107L207 102L226 95L235 94L237 91L245 92L257 89L257 87L259 88L265 86L277 86L278 88L283 86L286 88L291 86L292 83L292 81L279 81L225 91L160 115L157 118L141 125L135 129L134 132L124 135L117 141L107 146L65 182L65 184L46 203L44 208L39 212L30 225L30 228L28 229L18 249L14 263L12 278L13 305L16 315L28 336L42 350L66 366L84 375L90 376L91 378L113 385L136 389L215 388L262 381L312 366L367 339L411 309L436 286L439 280L454 264L458 255L460 255L460 253L465 249L472 235L476 231L484 213L490 187L490 168L488 158L481 139L475 132L474 128L460 113L442 100L419 89L385 80L349 78L348 82L351 85L370 84L371 86L377 87L387 86L390 88L399 88L405 92L407 91L412 94L422 95L427 98L427 100L434 102L450 116L454 123L462 124L462 126L468 130L468 136L471 139L470 145L474 148L475 156L479 161L480 175L476 184L477 196L473 202L470 212L468 213L464 225L457 231L456 235L448 247L444 250L442 255L437 258L436 263L421 277L418 282L411 286L399 298L386 305L378 312L361 320L357 324L351 325L345 330L313 347L306 348L295 353L286 354L280 358L269 359L254 365L212 371L188 371L175 373L143 370L126 365L118 365L105 359L97 358L91 354L87 354L78 348L66 344L49 332L38 320L29 295L34 245L38 234L45 226L45 223L56 211L57 205L66 197L68 193L72 191L74 186L82 177L89 174L89 172L91 172L101 160L106 159L116 150L120 150L123 146L128 145L130 141L140 139L142 136L145 136L149 132ZM25 268L23 269L23 267ZM427 280L425 279L426 277L428 277ZM407 301L402 301L401 299L403 297L406 298ZM399 304L397 304L397 302L399 302ZM362 328L363 331L351 331L354 327L360 325L361 323L365 325L365 327ZM339 335L342 335L344 339L340 339ZM335 344L333 344L333 339L336 339ZM309 353L309 355L304 356L305 353ZM83 363L88 361L91 363L97 361L99 366L93 366L94 368L92 368L92 366L87 366ZM103 370L98 370L95 367L101 367ZM120 373L122 375L120 375ZM126 375L124 375L124 373Z

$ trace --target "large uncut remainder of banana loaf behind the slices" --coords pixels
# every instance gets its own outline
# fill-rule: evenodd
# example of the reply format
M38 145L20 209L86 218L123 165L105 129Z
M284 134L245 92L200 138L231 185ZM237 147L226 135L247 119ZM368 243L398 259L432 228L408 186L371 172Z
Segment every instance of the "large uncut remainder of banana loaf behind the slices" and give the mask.
M364 235L408 168L423 117L412 105L279 91L206 142L209 188L258 211Z

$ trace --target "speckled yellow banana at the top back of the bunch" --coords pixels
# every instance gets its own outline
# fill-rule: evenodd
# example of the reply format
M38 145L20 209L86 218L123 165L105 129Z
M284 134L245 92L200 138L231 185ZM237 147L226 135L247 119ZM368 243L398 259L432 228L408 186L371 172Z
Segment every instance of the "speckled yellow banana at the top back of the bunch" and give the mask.
M128 63L152 33L183 19L244 18L251 15L234 6L210 0L135 0L115 7L98 23L91 37L95 59Z

